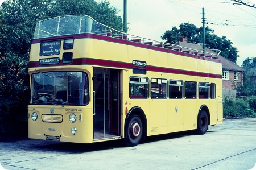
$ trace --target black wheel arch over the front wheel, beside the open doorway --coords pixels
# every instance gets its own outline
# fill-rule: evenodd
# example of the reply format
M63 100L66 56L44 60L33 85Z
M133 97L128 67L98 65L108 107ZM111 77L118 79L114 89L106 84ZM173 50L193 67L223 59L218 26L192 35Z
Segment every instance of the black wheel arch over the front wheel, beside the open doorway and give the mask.
M125 127L127 126L127 120L128 118L133 115L133 114L137 114L141 120L142 120L142 123L143 123L143 134L142 134L142 139L146 138L147 136L147 118L146 118L146 115L144 113L144 111L141 109L141 107L138 107L138 106L135 106L135 107L132 107L127 115L126 115L126 118L125 118ZM126 138L127 136L127 132L126 132L126 128L125 128L125 135L124 135L124 138Z

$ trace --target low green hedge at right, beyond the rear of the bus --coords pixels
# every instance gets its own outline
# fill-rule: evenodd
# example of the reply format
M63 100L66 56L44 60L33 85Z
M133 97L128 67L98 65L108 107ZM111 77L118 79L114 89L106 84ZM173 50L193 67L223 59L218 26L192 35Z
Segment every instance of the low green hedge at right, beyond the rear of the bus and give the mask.
M254 108L250 107L254 105L253 102L249 104L244 99L230 99L225 98L223 100L223 116L227 119L237 118L253 118L256 117ZM253 106L254 107L254 106Z

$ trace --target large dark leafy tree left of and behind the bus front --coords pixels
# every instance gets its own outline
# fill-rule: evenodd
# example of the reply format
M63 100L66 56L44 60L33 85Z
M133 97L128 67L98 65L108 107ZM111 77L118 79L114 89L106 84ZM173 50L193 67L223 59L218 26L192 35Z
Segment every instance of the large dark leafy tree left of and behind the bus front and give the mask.
M19 129L27 117L29 100L28 63L30 45L38 20L61 15L84 14L122 31L122 18L108 1L94 0L7 0L0 7L0 109L7 113L3 125ZM15 118L15 119L13 119ZM5 120L5 123L2 121ZM16 121L15 121L16 120ZM18 121L18 122L17 122ZM20 127L21 128L21 127Z

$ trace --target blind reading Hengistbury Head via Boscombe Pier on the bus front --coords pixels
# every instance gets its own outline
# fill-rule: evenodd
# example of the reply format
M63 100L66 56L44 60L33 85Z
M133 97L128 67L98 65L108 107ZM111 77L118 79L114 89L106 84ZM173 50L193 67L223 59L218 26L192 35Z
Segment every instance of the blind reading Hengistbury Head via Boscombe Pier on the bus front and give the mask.
M60 40L43 42L40 45L40 56L51 56L60 54Z

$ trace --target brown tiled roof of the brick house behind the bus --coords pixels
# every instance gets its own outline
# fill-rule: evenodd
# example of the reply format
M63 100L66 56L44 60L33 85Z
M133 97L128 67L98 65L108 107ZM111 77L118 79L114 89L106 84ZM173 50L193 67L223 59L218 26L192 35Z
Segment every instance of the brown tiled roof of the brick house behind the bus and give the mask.
M200 51L203 50L202 45L199 44L193 44L193 43L187 43L187 42L177 42L176 45L180 45L182 47L186 48L192 48L192 49L198 49ZM215 53L212 50L205 48L205 52ZM237 64L234 64L232 61L229 61L225 57L222 57L221 55L218 55L218 59L221 60L222 63L222 69L226 70L232 70L232 71L245 71L242 67L238 66Z

